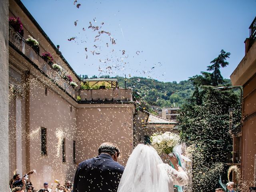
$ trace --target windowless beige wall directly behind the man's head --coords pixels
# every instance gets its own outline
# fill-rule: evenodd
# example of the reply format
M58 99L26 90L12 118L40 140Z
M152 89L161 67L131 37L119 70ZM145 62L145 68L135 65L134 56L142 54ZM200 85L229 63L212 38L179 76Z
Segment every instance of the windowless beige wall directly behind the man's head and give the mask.
M116 143L126 164L133 149L133 104L88 104L77 109L78 162L98 155L103 142Z

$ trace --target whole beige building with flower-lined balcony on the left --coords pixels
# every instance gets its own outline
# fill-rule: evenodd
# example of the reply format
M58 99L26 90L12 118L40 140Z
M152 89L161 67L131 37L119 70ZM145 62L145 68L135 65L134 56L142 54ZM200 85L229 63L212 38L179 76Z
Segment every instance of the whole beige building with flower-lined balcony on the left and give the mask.
M132 90L80 90L79 76L20 0L9 0L11 17L19 17L23 31L9 24L6 172L36 170L30 178L36 188L54 179L72 180L77 164L96 156L107 141L118 144L125 165L134 146ZM38 46L26 41L29 35ZM53 60L44 58L45 52Z

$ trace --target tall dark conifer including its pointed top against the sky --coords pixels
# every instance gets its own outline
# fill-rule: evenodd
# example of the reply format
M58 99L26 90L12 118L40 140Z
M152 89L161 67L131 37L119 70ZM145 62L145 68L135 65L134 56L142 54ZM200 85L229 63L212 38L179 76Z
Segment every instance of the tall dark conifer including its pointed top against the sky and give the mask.
M213 191L218 187L219 172L232 151L232 139L229 135L228 108L234 108L233 122L240 121L238 96L233 91L219 92L214 86L225 83L220 67L228 65L226 58L230 53L223 50L207 67L209 72L189 78L195 89L188 103L180 110L179 127L181 138L188 146L194 146L193 153L193 190ZM209 174L211 173L211 174ZM226 175L226 174L225 174Z

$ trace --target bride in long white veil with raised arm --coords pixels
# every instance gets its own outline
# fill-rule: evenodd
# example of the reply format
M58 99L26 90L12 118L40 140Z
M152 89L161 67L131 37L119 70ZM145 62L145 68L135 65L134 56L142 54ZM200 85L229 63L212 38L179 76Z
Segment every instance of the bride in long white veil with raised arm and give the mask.
M117 192L173 192L173 185L186 185L186 172L176 157L169 158L175 169L164 164L153 147L138 144L127 161Z

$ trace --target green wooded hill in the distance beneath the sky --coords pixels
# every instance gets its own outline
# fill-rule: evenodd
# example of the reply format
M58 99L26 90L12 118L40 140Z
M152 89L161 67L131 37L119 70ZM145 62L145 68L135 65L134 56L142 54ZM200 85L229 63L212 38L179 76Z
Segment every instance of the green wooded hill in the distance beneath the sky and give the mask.
M88 78L84 75L85 78ZM97 78L92 76L92 78ZM116 76L100 76L99 78L116 78L119 87L125 88L125 78ZM229 79L225 79L230 83ZM131 77L126 78L126 88L131 87L133 94L142 98L145 105L163 107L182 106L194 92L194 86L188 80L173 82L161 82L151 78Z

